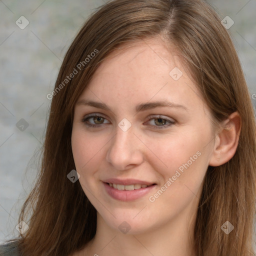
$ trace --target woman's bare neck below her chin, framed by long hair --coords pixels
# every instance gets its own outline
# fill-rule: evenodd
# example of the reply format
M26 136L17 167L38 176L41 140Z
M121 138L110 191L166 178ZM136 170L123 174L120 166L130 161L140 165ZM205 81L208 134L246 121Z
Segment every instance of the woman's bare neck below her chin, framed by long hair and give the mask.
M187 212L186 212L187 214ZM89 242L84 256L194 256L193 230L196 215L185 218L180 213L170 223L163 223L157 229L148 229L144 233L129 234L110 228L97 214L97 231Z

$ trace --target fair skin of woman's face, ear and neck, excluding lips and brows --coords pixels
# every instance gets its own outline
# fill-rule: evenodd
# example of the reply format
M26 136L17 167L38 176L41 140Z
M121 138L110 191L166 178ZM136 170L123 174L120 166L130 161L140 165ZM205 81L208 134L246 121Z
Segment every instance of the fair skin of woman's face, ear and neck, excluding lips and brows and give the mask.
M174 67L183 73L177 80L169 75ZM80 185L97 210L97 230L73 255L195 255L193 229L203 177L208 165L221 165L235 153L239 115L232 113L223 122L226 128L214 134L209 109L190 75L175 51L155 38L102 61L81 100L104 103L110 110L82 103L74 108L72 152ZM135 110L141 103L167 100L183 107ZM82 121L93 114L101 117ZM131 124L125 131L118 126L123 118ZM185 163L188 167L174 180ZM125 201L106 192L108 178L155 185ZM166 185L169 178L173 182ZM157 197L159 189L164 191ZM130 228L126 233L118 227L123 221Z

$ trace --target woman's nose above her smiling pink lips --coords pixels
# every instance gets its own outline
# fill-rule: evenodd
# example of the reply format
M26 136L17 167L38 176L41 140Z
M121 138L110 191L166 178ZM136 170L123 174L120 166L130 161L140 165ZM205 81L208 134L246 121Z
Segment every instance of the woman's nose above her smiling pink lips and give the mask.
M131 127L123 131L116 126L116 134L111 139L106 160L117 170L134 168L143 162L142 142Z

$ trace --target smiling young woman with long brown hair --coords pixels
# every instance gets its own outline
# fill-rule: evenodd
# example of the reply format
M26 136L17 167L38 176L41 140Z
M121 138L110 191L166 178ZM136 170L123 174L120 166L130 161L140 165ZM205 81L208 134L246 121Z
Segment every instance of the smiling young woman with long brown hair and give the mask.
M47 97L29 228L2 255L255 255L254 112L208 4L103 5Z

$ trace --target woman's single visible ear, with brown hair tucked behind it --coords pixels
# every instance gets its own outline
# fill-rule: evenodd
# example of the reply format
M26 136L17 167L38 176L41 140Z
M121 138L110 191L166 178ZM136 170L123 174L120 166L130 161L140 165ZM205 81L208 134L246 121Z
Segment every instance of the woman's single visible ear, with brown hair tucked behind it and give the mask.
M224 120L220 132L216 135L215 144L209 161L210 166L219 166L229 161L237 148L241 130L241 117L233 112Z

